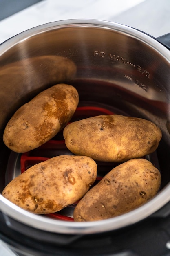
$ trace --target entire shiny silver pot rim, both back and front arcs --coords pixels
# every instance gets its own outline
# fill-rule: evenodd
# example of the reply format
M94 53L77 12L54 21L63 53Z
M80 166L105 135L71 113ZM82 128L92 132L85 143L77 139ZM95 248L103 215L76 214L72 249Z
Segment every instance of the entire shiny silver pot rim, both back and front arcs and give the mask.
M159 43L156 38L152 38L150 35L145 34L142 31L138 31L132 27L121 25L115 22L92 20L92 19L73 19L73 20L61 20L46 23L29 30L26 30L12 38L8 39L0 45L0 56L6 52L13 45L19 43L22 40L26 40L29 37L36 34L44 33L50 29L61 29L69 26L77 27L101 27L107 30L118 31L126 33L128 36L132 36L142 41L152 49L155 49L168 63L170 63L170 51ZM53 233L61 234L94 234L105 231L116 230L128 225L134 224L144 218L150 216L155 211L159 210L166 203L170 201L170 184L163 188L152 200L142 205L141 207L125 213L121 216L109 218L106 220L91 221L91 222L68 222L61 220L54 220L45 216L38 216L34 213L30 213L11 203L0 194L0 210L5 215L22 222L25 225L49 231Z

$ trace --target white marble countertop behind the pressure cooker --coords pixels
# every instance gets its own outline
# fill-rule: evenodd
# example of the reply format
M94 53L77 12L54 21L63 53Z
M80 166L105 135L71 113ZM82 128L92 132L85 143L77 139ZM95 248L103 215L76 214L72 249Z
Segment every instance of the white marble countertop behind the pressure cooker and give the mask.
M1 20L0 43L44 23L84 18L119 22L158 37L170 33L170 0L43 0ZM0 255L15 254L0 241Z

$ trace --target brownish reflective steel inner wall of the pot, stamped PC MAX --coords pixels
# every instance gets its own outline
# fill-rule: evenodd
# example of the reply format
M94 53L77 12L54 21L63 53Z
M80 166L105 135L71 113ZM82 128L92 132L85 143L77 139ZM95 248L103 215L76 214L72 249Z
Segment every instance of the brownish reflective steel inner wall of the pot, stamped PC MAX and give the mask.
M149 43L149 36L143 41L138 33L133 36L118 29L78 24L30 33L11 39L0 52L1 138L5 124L22 104L51 85L70 83L79 92L79 106L99 106L117 114L143 117L161 128L163 138L157 150L161 188L168 184L170 64L152 46L154 40ZM76 75L54 81L50 61L42 63L40 58L46 55L71 59L77 66ZM60 72L55 68L56 74ZM10 153L1 144L0 191Z

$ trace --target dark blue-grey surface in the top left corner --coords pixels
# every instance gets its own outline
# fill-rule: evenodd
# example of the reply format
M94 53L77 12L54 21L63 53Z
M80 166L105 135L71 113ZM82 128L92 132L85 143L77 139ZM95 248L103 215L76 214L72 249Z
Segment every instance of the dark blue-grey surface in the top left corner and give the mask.
M42 0L0 0L0 20Z

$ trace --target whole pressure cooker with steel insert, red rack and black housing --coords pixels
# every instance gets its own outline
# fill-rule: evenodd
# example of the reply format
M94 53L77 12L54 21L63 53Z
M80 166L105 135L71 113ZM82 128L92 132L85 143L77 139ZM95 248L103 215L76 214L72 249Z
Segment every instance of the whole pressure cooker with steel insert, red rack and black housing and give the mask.
M54 138L40 148L23 154L12 152L2 140L4 127L14 112L56 83L69 83L77 89L79 105L75 120L94 115L121 114L150 120L162 132L156 152L146 156L161 172L160 190L152 200L123 215L106 220L75 222L75 204L59 213L42 216L21 209L0 194L0 238L20 255L80 255L80 246L84 248L81 255L113 255L119 250L131 250L130 231L133 230L131 241L139 245L136 232L139 234L141 230L141 241L144 238L142 234L146 235L142 232L146 232L146 229L156 232L159 221L168 221L168 37L152 38L141 31L112 22L65 20L29 29L0 45L1 193L13 178L33 164L55 155L68 154L62 138ZM66 70L61 71L60 64L53 61L56 56L71 60L76 72L67 74ZM109 169L109 163L99 164L101 175ZM124 241L123 246L120 241ZM101 244L104 245L102 248ZM168 250L168 247L164 249ZM135 252L138 251L141 252L141 248L135 248ZM158 250L155 249L154 255L158 255L156 253ZM139 255L151 254L143 252Z

